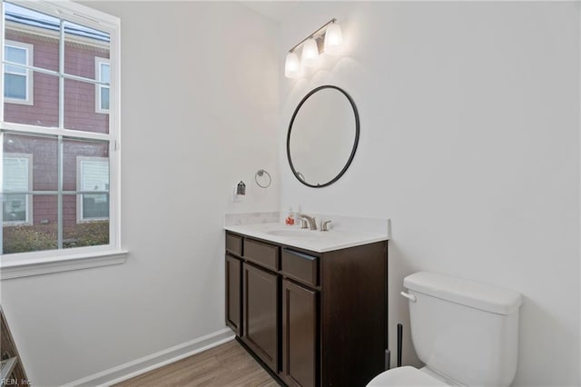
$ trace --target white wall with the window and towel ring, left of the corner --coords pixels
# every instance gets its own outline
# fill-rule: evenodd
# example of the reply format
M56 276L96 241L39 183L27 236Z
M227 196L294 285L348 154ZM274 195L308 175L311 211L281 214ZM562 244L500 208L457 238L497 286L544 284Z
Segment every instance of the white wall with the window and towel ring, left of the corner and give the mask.
M224 328L225 212L278 210L275 26L233 3L95 2L122 19L123 265L2 282L37 386ZM261 190L254 173L273 184ZM245 202L231 189L248 185Z

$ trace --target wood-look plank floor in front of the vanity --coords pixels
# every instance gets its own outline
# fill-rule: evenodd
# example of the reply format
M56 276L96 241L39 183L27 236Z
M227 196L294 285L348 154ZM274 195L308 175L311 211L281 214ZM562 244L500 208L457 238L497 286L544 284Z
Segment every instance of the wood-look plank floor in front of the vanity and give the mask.
M232 340L115 384L115 387L278 385L238 342Z

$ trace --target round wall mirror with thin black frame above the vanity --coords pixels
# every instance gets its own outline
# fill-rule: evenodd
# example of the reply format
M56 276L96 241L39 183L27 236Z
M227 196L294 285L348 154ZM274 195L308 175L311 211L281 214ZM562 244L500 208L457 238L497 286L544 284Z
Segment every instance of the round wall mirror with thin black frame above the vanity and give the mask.
M324 187L347 171L359 142L359 114L337 86L311 90L292 114L287 157L300 183Z

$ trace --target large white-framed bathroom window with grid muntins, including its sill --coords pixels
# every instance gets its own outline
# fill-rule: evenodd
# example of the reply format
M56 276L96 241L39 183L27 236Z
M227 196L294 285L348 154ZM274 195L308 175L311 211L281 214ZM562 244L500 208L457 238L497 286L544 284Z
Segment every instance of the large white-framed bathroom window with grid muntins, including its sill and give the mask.
M0 15L0 277L123 263L119 19L53 1Z

